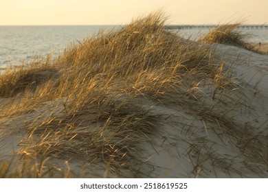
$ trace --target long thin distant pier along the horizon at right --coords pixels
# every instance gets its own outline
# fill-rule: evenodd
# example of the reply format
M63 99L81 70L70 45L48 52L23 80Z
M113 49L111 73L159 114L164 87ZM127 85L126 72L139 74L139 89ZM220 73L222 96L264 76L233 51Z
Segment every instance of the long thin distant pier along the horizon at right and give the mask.
M210 29L219 25L166 25L166 29ZM240 25L241 29L268 29L268 25Z

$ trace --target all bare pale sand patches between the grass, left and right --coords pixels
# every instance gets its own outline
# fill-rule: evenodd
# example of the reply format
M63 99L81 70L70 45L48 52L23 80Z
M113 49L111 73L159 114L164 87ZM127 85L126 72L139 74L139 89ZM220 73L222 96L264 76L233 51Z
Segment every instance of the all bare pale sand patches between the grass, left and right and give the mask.
M237 103L230 104L226 99L226 104L221 104L223 112L227 111L227 106L230 109L232 105L232 110L226 112L226 117L235 119L238 125L243 125L243 128L249 129L248 131L255 135L267 136L268 56L229 45L215 46L216 52L227 60L226 67L234 71L233 80L243 82L243 86L236 93ZM268 44L261 45L260 48L262 51L267 51ZM207 97L211 91L209 83L204 80L203 90L200 90L199 95L204 103L214 104L215 101ZM2 98L0 104L5 105L9 101ZM245 101L247 106L240 105L239 102L242 101ZM154 114L161 115L159 119L161 134L140 143L144 149L141 152L144 163L139 166L141 170L148 173L144 177L268 178L268 165L265 161L258 161L260 157L255 154L246 156L239 141L235 141L221 130L213 130L192 109L172 103L159 105L150 100L139 101L137 105L150 108ZM16 154L23 138L23 132L19 127L36 119L40 110L45 108L50 108L49 102L30 114L1 119L0 160ZM52 110L60 112L63 109ZM249 142L254 141L249 140ZM252 145L252 147L256 146ZM251 158L252 160L249 160ZM252 162L259 162L259 164L251 165ZM80 163L71 161L70 165L77 170L81 166ZM92 172L102 176L103 169L100 167ZM126 176L133 177L131 173L126 173Z

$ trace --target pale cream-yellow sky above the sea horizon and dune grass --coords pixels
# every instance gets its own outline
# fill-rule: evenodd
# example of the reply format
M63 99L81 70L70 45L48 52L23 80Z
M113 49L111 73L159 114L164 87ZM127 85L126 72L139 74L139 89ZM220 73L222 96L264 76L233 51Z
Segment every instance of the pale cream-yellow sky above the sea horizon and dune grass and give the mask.
M0 0L0 25L117 25L163 9L170 24L268 23L267 0Z

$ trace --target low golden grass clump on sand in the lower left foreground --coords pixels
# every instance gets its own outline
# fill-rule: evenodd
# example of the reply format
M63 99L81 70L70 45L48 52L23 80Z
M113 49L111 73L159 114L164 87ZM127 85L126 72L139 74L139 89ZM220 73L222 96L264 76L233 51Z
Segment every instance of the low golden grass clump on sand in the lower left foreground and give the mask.
M83 160L88 165L109 164L109 171L120 176L124 169L137 171L133 165L141 163L139 142L157 134L157 117L131 102L115 105L102 100L85 105L31 125L30 136L21 141L21 155L46 154Z

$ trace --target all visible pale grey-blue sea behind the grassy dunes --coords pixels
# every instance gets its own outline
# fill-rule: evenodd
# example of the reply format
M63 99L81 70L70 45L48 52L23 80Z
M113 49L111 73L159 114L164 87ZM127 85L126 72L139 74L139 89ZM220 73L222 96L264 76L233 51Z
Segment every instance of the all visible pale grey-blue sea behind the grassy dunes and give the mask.
M71 44L80 43L99 31L117 30L120 25L68 26L0 26L0 69L30 63L36 56L62 53ZM197 39L208 33L209 27L193 26L169 29L185 38ZM252 43L268 43L268 27L242 27Z

